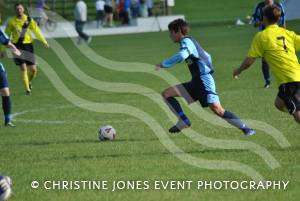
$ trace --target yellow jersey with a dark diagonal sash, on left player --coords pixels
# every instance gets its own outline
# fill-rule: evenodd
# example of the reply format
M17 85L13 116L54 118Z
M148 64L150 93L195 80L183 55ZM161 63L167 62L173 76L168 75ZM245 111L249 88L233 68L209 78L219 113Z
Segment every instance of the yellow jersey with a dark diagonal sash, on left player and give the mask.
M11 38L11 41L13 43L18 42L21 32L22 32L22 26L27 21L27 19L28 19L28 16L24 15L24 17L22 19L17 18L15 16L11 20L9 20L9 22L6 26L6 29L5 29L5 33L8 35L8 37ZM35 34L36 38L39 41L41 41L43 44L47 43L45 37L43 36L43 34L41 32L41 29L38 27L37 23L33 19L31 19L30 24L25 33L23 44L29 44L29 43L33 42L31 32L33 32Z

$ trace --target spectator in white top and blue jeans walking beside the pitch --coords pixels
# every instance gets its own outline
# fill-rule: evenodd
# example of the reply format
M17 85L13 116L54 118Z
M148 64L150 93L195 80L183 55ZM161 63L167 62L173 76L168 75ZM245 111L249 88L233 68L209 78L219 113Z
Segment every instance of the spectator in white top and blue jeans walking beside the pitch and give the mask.
M92 37L83 32L84 25L87 21L87 6L83 0L78 0L75 6L75 29L79 35L78 44L84 40L90 43Z

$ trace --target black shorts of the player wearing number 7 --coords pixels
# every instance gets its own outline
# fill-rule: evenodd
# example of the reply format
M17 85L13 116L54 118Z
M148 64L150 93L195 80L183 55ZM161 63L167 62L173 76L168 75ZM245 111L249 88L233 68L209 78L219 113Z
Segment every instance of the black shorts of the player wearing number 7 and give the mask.
M290 114L300 111L300 82L280 85L278 97L284 101Z

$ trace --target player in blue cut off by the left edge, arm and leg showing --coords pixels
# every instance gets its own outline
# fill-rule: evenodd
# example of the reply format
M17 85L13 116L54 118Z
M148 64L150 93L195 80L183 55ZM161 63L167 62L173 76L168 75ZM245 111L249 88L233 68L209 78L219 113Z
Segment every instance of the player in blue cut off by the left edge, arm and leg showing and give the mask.
M21 52L9 41L7 35L0 29L0 43L11 48L13 54L20 56ZM4 66L0 63L0 93L2 96L2 109L4 113L4 125L8 127L14 127L11 122L11 99L8 88L8 81Z

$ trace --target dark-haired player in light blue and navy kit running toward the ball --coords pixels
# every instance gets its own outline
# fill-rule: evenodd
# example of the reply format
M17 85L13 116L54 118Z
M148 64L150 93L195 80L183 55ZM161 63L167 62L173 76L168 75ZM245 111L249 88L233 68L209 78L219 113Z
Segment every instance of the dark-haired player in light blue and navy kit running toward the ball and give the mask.
M202 107L209 107L216 115L242 130L245 135L255 134L255 130L247 127L235 114L221 106L213 78L211 56L194 38L188 36L187 23L183 19L177 19L171 22L168 28L171 39L180 44L180 51L157 64L156 70L170 68L185 61L192 76L191 81L172 86L162 93L166 103L178 117L178 122L169 129L169 132L177 133L191 126L190 120L175 99L175 97L184 97L188 103L199 101Z

